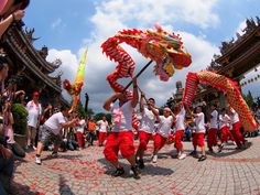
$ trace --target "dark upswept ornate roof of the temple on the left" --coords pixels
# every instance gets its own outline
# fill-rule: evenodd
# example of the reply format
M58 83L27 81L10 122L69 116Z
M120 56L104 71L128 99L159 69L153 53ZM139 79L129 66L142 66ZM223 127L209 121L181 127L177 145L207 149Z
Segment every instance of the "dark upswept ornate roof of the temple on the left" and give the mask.
M33 41L36 40L32 37L34 30L23 30L22 25L17 23L10 26L1 40L2 47L9 56L12 68L14 68L12 74L23 75L30 82L28 85L34 83L34 87L36 87L34 90L47 90L54 97L59 97L63 104L68 105L62 97L62 74L48 75L61 66L62 61L47 62L47 47L43 46L40 51L34 48Z

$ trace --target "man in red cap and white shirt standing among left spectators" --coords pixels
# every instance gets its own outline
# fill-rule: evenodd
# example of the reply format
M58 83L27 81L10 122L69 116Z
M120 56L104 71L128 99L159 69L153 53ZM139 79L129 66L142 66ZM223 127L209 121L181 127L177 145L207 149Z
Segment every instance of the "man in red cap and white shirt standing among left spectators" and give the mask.
M39 91L33 93L33 99L28 102L26 110L28 110L28 145L29 148L34 148L34 141L36 137L36 129L40 126L41 115L42 115L42 106L39 102Z

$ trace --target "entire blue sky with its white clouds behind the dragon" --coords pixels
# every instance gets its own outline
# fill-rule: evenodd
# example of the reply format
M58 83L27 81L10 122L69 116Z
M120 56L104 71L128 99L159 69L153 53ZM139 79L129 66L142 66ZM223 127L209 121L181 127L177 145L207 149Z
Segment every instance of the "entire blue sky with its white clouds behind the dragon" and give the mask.
M220 42L231 40L245 26L246 18L260 15L259 8L259 0L32 0L24 22L35 28L35 37L41 37L34 46L47 45L48 61L63 61L63 78L74 80L80 53L89 47L84 90L90 96L89 107L102 111L105 98L112 93L106 76L116 65L102 56L100 44L117 31L152 29L153 23L160 23L183 36L193 64L167 83L160 82L151 71L139 80L161 106L175 90L175 82L184 82L187 72L205 68L218 53ZM137 64L145 63L137 52L128 50ZM137 71L140 68L137 65Z

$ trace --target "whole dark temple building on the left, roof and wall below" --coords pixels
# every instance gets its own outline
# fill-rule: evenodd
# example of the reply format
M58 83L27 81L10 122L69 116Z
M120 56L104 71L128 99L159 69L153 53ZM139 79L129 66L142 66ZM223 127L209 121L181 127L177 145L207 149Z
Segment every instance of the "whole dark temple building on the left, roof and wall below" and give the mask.
M33 42L34 29L23 29L23 22L13 23L1 40L1 54L6 54L9 61L9 77L18 80L18 89L23 89L31 98L34 90L41 93L42 104L66 104L62 97L61 73L56 76L55 69L62 65L61 59L47 62L48 48L43 46L36 50Z

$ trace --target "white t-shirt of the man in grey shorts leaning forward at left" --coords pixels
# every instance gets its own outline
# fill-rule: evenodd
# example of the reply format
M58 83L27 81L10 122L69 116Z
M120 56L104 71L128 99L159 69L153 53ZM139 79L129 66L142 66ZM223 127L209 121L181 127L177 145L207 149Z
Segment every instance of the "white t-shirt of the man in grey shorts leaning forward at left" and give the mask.
M47 126L50 129L52 129L52 132L54 134L58 134L62 130L62 123L65 123L67 119L63 116L63 113L59 111L57 113L52 115L44 124Z

